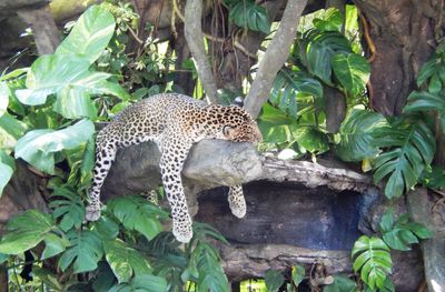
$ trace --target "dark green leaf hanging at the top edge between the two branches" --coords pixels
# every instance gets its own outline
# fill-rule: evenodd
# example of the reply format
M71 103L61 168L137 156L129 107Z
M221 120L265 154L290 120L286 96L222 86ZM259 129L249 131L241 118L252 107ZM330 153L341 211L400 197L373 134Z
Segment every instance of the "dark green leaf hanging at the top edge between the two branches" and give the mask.
M270 21L267 10L255 3L253 0L236 2L229 11L229 20L240 28L270 32Z

